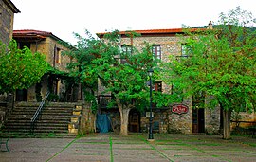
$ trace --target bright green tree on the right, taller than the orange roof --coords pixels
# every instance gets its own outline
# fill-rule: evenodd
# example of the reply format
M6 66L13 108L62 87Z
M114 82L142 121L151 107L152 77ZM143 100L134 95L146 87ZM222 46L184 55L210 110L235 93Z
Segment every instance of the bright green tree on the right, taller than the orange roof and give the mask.
M182 39L188 57L173 58L167 65L168 76L172 76L168 80L184 92L183 97L201 93L208 107L221 107L224 139L230 138L231 111L241 106L255 109L255 20L239 7L221 13L213 30L188 32L189 37Z

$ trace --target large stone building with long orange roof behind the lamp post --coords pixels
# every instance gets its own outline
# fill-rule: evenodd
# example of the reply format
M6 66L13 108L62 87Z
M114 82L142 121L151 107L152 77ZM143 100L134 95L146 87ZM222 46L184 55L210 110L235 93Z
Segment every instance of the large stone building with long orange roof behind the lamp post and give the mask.
M161 59L162 62L167 62L168 57L173 55L175 57L186 56L184 47L181 43L180 37L177 34L184 34L182 28L173 29L150 29L150 30L134 30L140 34L139 37L128 37L129 31L120 31L120 45L129 47L134 45L137 49L141 49L144 42L153 45L153 53L155 57ZM104 33L98 33L102 38ZM162 81L156 81L155 87L162 91L162 93L170 93L170 88ZM165 108L153 108L153 130L157 133L219 133L220 130L220 109L214 110L196 108L200 99L186 100L178 106L184 107L188 112L178 113L172 111L173 105ZM119 111L103 109L105 113L109 113L112 118L113 127L119 128ZM149 112L140 113L137 110L131 110L129 115L130 132L148 132Z

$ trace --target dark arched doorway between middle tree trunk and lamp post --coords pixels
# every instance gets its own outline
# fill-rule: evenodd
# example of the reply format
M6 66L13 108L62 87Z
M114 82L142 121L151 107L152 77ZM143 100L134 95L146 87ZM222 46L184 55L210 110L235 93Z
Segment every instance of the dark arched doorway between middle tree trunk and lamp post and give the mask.
M140 113L132 109L129 114L129 132L138 133L140 129Z

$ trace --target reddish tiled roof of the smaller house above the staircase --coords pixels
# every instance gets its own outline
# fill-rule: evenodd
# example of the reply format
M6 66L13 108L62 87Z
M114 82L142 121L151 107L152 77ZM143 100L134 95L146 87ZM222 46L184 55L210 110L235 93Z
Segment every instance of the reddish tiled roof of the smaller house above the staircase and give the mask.
M69 45L68 43L64 42L62 39L48 31L40 31L34 29L13 30L12 37L14 40L23 39L26 41L40 41L46 39L46 37L51 37L57 41L63 42L63 45L65 45L66 47L74 48L74 46Z

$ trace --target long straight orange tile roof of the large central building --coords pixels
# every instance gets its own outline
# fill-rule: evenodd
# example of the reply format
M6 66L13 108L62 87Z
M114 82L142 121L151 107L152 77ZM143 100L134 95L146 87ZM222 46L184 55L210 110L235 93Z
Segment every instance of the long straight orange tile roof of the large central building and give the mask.
M204 30L204 28L191 28L191 31L198 31ZM169 28L169 29L146 29L146 30L131 30L131 31L119 31L120 35L129 34L129 32L136 32L141 35L170 35L170 34L177 34L177 33L184 33L184 28ZM103 37L106 33L109 32L102 32L97 33L98 37Z

